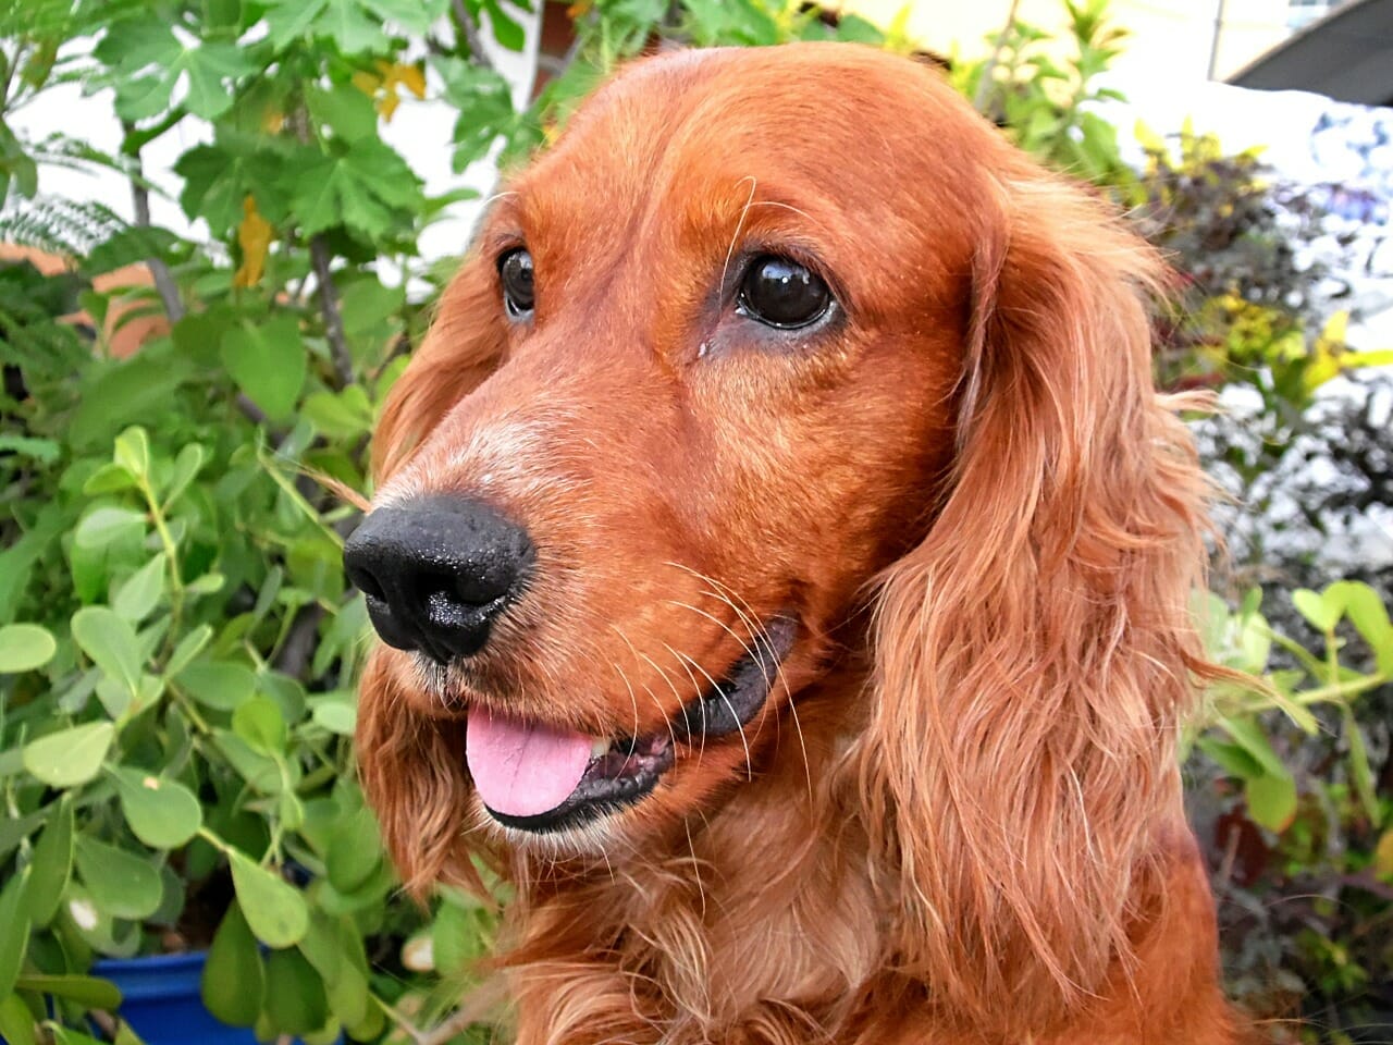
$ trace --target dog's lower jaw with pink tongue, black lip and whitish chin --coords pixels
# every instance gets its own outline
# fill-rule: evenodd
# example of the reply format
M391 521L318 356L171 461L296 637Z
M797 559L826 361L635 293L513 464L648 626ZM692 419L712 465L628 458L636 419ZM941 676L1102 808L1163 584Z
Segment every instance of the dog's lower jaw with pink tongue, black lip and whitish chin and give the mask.
M677 776L729 761L723 748L748 759L745 726L769 702L797 633L791 616L773 617L724 674L638 736L591 737L471 708L467 761L479 826L513 847L556 856L605 853L617 836L642 833L653 819L646 814L670 805L659 798L671 796Z

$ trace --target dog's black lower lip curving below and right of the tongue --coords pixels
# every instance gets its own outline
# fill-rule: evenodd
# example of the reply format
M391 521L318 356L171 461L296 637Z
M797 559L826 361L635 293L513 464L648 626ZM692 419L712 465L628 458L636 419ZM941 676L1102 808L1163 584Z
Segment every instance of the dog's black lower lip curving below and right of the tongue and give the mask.
M485 808L507 828L549 833L578 828L634 805L673 768L678 744L702 747L744 730L769 699L797 634L794 617L775 616L726 676L683 705L671 722L637 737L618 737L591 758L575 790L560 805L529 816Z

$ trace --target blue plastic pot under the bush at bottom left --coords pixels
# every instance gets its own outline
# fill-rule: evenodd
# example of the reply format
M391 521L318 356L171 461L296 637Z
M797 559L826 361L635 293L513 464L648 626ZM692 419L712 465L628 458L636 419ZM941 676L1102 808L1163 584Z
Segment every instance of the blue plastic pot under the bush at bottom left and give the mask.
M198 982L206 952L103 959L92 975L121 989L121 1017L145 1045L256 1045L249 1027L228 1027L203 1007Z

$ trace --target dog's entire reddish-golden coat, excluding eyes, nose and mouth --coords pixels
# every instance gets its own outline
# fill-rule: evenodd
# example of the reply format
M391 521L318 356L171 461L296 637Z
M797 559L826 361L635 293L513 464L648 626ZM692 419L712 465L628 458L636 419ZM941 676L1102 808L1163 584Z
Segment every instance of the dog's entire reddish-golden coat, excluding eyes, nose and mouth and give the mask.
M1180 805L1204 483L1152 392L1156 256L850 46L639 63L508 188L383 412L378 503L492 499L538 582L449 676L380 648L358 741L412 888L471 854L514 882L518 1042L1243 1039ZM734 322L745 244L815 259L844 322ZM652 730L790 609L744 740L584 835L481 811L467 705Z

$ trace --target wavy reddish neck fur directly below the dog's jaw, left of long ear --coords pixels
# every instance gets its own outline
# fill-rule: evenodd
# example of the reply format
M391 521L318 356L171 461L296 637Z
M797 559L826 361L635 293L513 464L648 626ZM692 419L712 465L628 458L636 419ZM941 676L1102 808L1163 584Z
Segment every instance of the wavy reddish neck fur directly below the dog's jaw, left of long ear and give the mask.
M853 674L800 694L797 723L713 812L584 869L514 867L520 1045L744 1041L730 1028L747 1024L751 1041L808 1042L846 1025L882 956L864 830L836 798ZM613 1025L625 1010L632 1025Z

